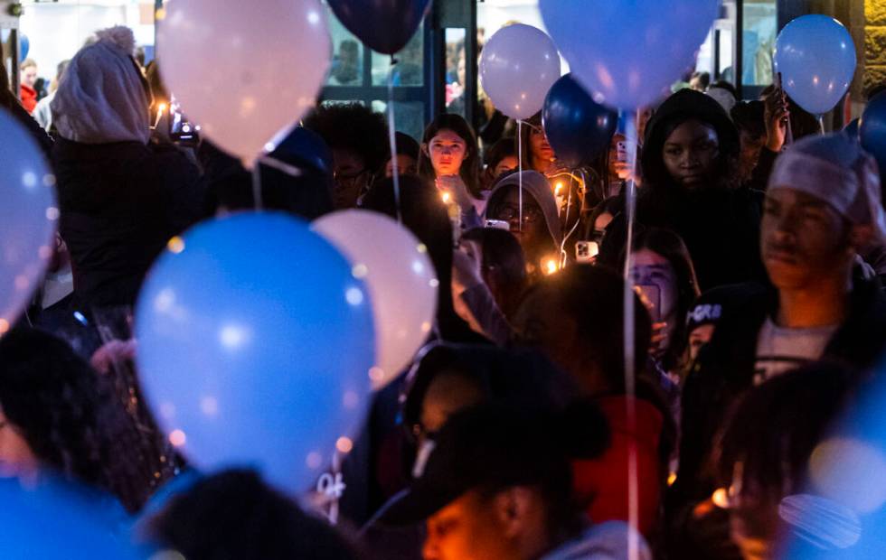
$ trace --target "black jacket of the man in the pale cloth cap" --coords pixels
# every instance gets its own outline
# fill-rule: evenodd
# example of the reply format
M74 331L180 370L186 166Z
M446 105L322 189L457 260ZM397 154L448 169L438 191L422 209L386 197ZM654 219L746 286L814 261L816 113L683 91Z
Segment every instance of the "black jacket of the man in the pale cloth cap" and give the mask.
M680 471L672 504L709 498L714 438L730 406L753 386L757 340L766 317L778 305L774 289L759 291L718 323L712 341L700 352L683 388ZM856 278L844 324L828 342L823 359L865 369L886 350L886 297L878 280Z

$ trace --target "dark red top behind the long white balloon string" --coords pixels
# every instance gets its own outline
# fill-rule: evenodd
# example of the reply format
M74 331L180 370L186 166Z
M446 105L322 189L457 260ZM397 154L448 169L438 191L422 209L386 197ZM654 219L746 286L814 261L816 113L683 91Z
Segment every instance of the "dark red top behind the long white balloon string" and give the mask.
M636 445L639 527L648 535L658 518L662 470L658 457L664 418L646 400L635 399L636 429L627 429L627 397L604 397L598 405L609 421L611 443L606 453L593 461L572 462L573 485L594 523L628 520L628 450Z

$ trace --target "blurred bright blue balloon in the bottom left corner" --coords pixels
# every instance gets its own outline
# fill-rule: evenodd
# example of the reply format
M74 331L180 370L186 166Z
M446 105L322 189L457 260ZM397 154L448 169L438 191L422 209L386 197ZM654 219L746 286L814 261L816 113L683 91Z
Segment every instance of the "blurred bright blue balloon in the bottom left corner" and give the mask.
M146 558L130 545L118 502L97 490L41 476L0 479L0 555L5 560Z

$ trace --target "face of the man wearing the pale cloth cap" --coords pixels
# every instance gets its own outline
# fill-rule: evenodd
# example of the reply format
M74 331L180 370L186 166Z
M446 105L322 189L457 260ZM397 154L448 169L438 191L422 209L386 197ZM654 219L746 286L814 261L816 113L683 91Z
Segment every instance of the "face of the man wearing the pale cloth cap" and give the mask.
M853 247L831 205L794 189L772 189L763 204L760 252L772 284L802 288L846 275Z

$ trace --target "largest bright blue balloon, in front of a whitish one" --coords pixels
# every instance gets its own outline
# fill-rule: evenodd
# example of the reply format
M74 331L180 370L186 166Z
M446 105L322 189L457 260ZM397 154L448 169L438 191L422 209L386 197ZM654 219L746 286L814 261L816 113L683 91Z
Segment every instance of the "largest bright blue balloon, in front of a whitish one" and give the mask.
M147 401L201 470L252 467L304 491L369 403L369 293L284 214L214 219L171 240L139 294L136 336Z

